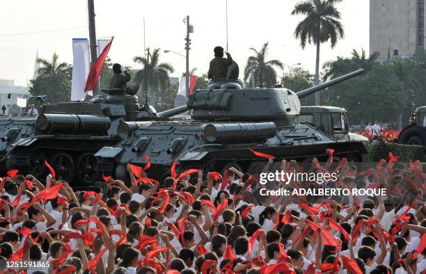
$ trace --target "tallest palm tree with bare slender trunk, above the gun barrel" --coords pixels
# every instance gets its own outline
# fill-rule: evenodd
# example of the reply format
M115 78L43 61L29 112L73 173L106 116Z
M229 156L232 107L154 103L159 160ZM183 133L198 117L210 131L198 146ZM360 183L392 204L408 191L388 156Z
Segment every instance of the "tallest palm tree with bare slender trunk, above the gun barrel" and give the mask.
M292 15L305 15L297 24L294 35L300 39L302 49L306 42L317 46L317 60L315 64L315 85L319 83L319 45L330 40L331 48L336 46L339 38L345 36L340 23L340 12L336 3L342 0L304 0L294 6ZM319 92L315 93L315 105L320 102Z

